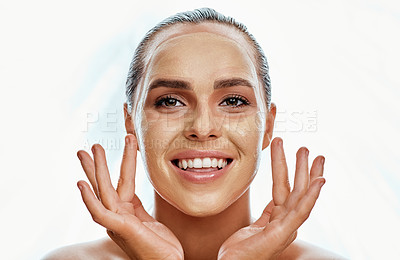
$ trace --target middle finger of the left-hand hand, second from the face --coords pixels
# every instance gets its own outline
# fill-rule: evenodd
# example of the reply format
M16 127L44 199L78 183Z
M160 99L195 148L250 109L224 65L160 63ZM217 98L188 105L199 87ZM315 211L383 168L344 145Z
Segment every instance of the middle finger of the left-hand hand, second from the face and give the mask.
M115 211L115 205L119 198L111 184L104 149L101 145L95 144L92 146L92 152L100 200L107 209Z

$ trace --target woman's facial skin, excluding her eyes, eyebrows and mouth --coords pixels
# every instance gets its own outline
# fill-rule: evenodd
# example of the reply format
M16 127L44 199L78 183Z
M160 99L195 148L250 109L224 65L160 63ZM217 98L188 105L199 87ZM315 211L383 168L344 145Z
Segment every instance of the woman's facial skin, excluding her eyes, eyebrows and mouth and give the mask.
M261 89L257 87L254 91L241 85L213 89L218 80L231 78L243 78L254 86L259 85L247 53L243 53L236 42L208 32L164 41L149 64L145 86L158 79L179 79L190 82L193 87L193 91L160 87L148 94L143 92L140 99L147 98L138 108L143 107L144 113L136 116L137 125L143 125L143 121L146 124L140 129L139 147L144 151L147 172L155 190L187 215L207 217L222 212L247 190L258 168L256 159L261 152L263 135L262 127L257 125L261 120L258 112L264 112L257 105L263 104ZM155 108L156 99L168 93L180 100L179 103L175 101L176 107ZM241 108L220 105L231 93L246 97L251 104ZM270 117L274 117L274 113L275 109ZM268 123L270 131L273 118L269 121L272 122ZM267 136L264 147L269 140ZM161 145L154 147L154 143ZM153 149L144 149L149 146ZM182 181L168 165L168 158L187 147L225 151L235 159L235 165L229 174L207 185ZM162 213L156 211L156 214Z

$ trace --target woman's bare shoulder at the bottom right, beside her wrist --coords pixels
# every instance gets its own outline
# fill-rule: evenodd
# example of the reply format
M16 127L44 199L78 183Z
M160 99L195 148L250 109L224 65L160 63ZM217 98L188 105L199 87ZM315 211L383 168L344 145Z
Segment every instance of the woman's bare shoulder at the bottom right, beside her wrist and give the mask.
M288 246L288 248L285 249L285 251L283 251L279 259L343 260L346 258L321 247L296 239L290 246Z

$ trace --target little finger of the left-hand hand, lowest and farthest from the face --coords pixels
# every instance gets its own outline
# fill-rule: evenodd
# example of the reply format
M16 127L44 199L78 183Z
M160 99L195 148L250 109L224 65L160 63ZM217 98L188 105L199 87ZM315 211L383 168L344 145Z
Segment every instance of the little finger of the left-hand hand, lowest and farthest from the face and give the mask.
M104 207L85 181L79 181L78 188L93 221L107 229L118 230L121 226L121 218Z

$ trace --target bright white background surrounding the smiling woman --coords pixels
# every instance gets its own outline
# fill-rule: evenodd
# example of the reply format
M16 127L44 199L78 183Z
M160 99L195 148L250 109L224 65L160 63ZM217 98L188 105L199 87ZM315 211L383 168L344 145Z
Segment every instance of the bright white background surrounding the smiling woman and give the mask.
M163 18L205 6L246 24L268 57L291 182L299 147L326 157L327 183L298 238L350 259L400 256L398 2L213 2L0 2L0 258L38 259L105 235L76 187L76 151L103 144L117 180L136 45ZM271 199L268 149L254 217Z

